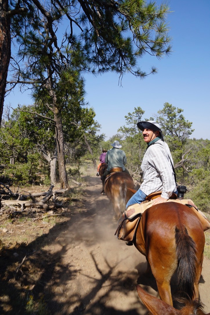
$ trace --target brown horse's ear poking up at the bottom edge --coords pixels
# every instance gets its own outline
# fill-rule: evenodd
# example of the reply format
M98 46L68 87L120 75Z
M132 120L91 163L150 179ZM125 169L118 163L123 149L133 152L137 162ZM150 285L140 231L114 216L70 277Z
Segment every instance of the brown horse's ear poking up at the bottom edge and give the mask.
M179 310L176 310L174 307L158 299L157 297L146 293L146 291L139 285L137 285L136 289L142 302L152 315L181 315Z

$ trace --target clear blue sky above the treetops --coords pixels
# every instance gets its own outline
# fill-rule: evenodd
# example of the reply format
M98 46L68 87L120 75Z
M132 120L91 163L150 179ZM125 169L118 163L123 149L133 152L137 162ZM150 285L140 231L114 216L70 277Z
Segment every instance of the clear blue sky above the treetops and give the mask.
M155 66L157 74L144 80L125 74L122 86L114 73L85 76L86 100L94 108L106 140L125 124L124 116L134 107L145 111L142 118L150 118L163 109L165 102L184 110L185 119L195 129L191 138L210 139L210 1L173 0L169 6L174 11L167 19L172 54L161 60L150 56L140 60L143 71L149 72ZM31 100L27 91L16 91L5 98L4 104L9 102L16 107Z

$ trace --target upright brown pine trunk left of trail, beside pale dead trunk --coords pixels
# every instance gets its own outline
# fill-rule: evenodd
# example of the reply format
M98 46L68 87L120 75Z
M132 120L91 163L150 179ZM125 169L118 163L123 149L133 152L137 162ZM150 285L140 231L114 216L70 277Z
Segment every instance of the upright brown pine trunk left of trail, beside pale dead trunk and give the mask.
M68 184L66 165L65 165L65 155L64 155L64 133L62 127L61 110L57 107L54 110L54 120L55 120L55 135L57 141L58 150L58 169L60 177L61 189L70 188Z

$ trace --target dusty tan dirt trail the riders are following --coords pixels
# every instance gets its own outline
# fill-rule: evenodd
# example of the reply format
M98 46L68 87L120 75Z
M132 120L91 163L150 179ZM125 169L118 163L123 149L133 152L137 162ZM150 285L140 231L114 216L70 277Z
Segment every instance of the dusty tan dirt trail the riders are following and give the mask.
M146 314L136 292L143 285L157 296L154 279L145 278L146 259L134 246L114 236L117 227L108 198L100 195L101 182L89 177L86 202L63 232L46 245L57 260L51 287L53 314ZM204 258L200 298L210 311L210 261Z

